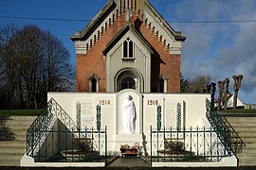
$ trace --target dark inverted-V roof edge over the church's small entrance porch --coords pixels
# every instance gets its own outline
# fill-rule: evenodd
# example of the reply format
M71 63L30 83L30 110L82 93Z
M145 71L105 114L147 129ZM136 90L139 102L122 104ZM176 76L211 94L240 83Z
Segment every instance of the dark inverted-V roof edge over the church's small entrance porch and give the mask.
M146 39L144 39L144 37L139 32L137 32L137 30L133 26L130 25L130 23L126 23L126 25L119 30L116 36L113 37L113 39L106 44L106 47L103 50L103 54L107 54L109 50L111 50L112 47L116 44L116 42L119 42L123 35L126 34L129 30L131 30L132 33L137 37L137 39L142 42L142 44L144 44L144 46L150 51L151 54L154 54L154 51L151 49L150 43L147 42Z

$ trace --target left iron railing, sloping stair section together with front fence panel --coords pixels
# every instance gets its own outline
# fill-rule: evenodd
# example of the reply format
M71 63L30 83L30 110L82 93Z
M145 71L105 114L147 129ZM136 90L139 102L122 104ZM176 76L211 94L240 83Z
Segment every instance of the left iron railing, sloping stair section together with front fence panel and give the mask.
M27 155L39 162L106 162L106 142L106 127L76 127L53 98L27 129Z

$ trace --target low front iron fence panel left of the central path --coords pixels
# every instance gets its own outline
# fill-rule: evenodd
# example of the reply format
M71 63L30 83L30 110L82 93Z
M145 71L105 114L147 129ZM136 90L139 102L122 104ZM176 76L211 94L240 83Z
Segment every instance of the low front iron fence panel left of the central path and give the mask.
M34 156L36 162L107 162L106 128L53 127L42 131L47 138Z

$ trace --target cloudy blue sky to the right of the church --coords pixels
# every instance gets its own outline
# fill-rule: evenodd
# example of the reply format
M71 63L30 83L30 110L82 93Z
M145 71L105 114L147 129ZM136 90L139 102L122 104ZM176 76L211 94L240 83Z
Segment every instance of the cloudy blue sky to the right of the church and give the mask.
M255 0L165 1L161 14L172 21L256 20ZM157 3L157 0L156 2ZM154 4L155 4L154 3ZM163 3L159 1L158 3ZM181 71L186 78L210 75L215 80L244 75L241 100L256 102L256 22L171 24L187 37L183 43ZM230 87L232 92L232 88Z

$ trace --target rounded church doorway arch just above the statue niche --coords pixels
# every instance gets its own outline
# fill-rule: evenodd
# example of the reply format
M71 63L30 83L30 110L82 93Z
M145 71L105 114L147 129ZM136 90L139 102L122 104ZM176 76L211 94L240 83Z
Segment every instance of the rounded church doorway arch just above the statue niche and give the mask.
M123 69L115 78L116 93L124 89L134 89L137 92L143 92L142 76L134 69Z

